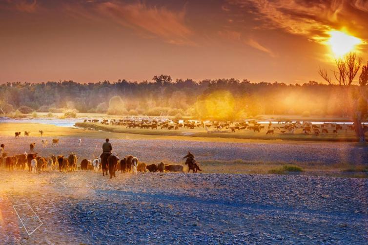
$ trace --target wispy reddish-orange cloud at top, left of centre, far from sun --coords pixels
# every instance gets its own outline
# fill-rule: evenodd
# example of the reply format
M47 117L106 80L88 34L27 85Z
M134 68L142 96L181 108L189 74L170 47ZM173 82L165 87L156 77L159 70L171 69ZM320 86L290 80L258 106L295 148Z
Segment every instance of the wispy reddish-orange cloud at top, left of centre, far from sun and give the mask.
M195 45L192 31L185 23L185 8L179 12L165 7L149 7L145 3L118 1L89 2L88 5L65 5L74 16L85 19L106 19L134 30L143 38L161 38L167 43ZM97 15L97 16L96 16Z

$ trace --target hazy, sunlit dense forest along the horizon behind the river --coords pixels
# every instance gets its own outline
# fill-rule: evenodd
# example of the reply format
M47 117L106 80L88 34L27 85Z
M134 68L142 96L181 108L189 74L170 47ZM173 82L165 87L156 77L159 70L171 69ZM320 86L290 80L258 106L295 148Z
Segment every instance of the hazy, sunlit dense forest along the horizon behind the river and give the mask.
M201 119L236 119L259 114L346 116L340 106L341 88L315 81L301 84L251 83L248 80L193 81L168 75L152 82L73 81L6 83L0 85L3 113L62 112L118 115L196 116ZM1 113L1 111L0 111Z

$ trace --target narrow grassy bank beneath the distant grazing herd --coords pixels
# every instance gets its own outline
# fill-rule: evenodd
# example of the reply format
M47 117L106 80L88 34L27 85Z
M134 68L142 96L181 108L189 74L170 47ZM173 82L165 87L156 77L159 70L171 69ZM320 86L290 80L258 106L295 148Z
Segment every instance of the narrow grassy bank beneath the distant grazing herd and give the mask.
M261 132L253 132L250 130L241 130L236 132L211 132L208 133L204 128L167 130L167 129L128 129L125 126L102 125L101 123L76 123L77 127L85 129L95 129L105 132L117 132L128 134L142 134L142 135L163 135L163 136L190 136L199 138L226 138L226 139L253 139L253 140L287 140L287 141L330 141L330 142L354 142L356 136L353 131L339 130L338 134L333 134L333 129L328 128L328 133L321 133L319 136L313 134L306 135L302 129L297 129L295 133L281 133L280 130L275 130L274 134L266 135L267 130ZM267 128L267 125L264 125ZM273 125L281 126L281 125ZM368 134L367 134L368 135Z

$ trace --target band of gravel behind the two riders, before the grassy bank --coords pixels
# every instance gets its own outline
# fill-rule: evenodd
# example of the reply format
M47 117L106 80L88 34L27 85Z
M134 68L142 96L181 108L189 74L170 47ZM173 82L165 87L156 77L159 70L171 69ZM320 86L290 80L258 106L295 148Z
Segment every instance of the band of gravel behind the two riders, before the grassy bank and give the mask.
M50 154L68 155L75 152L80 159L91 159L92 154L101 153L104 139L82 138L78 146L77 137L59 137L58 147L51 146L51 137L14 137L3 136L8 155L29 151L29 144L36 142L35 151L42 156ZM47 139L49 145L42 148L41 139ZM168 161L183 163L182 156L191 151L198 161L201 160L238 160L265 162L305 162L305 163L351 163L368 164L367 148L354 147L348 142L283 142L283 143L226 143L180 140L126 140L110 139L113 151L120 155L132 154L146 163Z

